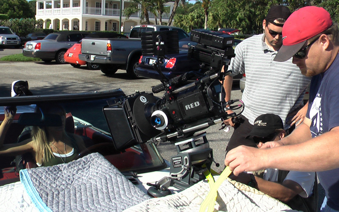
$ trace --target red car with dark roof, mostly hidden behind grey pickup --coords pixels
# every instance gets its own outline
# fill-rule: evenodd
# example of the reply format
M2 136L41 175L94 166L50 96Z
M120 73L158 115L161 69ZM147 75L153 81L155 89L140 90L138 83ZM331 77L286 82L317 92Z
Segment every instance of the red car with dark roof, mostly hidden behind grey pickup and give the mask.
M93 32L86 38L127 38L125 35L115 32ZM81 61L79 54L81 53L81 41L69 48L64 54L64 60L69 62L73 67L87 65L90 70L98 70L99 66L96 63Z

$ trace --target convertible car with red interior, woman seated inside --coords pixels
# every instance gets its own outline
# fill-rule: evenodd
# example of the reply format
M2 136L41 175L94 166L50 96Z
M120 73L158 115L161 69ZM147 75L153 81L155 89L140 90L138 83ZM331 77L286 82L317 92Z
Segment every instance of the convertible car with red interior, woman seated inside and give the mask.
M22 114L34 112L35 104L58 103L67 112L66 131L84 137L87 150L80 152L77 158L92 152L100 152L123 173L152 172L166 168L167 164L154 144L137 144L119 150L115 148L114 138L112 138L109 128L109 123L112 123L112 121L107 121L108 115L105 115L105 113L108 109L104 110L103 108L109 108L109 102L121 96L124 96L124 93L118 89L80 94L1 97L1 106L17 106L15 121L11 124L4 143L16 143L18 140L22 140L20 134L25 125L20 124L18 119ZM0 121L3 119L2 111ZM31 120L31 122L33 125L34 120ZM19 169L37 167L29 153L16 157L16 165L12 163L14 160L14 157L0 157L0 185L19 181Z

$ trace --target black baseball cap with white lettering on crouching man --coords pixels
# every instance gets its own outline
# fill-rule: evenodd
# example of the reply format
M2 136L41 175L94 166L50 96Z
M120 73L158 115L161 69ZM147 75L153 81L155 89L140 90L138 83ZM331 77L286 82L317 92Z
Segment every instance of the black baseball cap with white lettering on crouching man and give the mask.
M284 124L278 115L267 113L258 116L252 128L252 131L246 136L267 137L275 133L276 129L283 129Z

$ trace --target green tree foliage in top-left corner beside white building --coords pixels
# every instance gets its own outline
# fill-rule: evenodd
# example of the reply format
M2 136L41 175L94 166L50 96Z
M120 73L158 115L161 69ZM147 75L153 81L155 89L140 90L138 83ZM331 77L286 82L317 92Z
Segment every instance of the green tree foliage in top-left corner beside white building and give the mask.
M26 0L0 0L0 5L0 14L8 18L33 18L35 15Z

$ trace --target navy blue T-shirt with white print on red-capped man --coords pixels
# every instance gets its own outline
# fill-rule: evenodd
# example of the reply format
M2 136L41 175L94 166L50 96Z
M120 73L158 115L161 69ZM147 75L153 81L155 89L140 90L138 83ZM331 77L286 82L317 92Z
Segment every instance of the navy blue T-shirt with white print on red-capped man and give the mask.
M311 120L312 137L339 126L339 55L329 69L312 77L307 117ZM339 211L339 168L317 174L326 192L327 205Z

